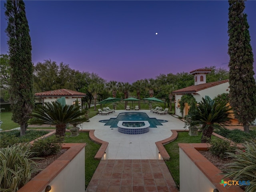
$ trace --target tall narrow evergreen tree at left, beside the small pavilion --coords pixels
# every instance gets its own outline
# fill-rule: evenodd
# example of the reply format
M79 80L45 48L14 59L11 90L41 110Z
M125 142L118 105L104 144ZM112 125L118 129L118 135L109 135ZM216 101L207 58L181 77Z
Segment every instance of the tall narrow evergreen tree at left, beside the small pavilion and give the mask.
M31 39L25 4L22 0L8 0L4 4L8 20L6 34L10 56L10 102L12 120L20 124L20 135L25 134L33 101L33 64Z

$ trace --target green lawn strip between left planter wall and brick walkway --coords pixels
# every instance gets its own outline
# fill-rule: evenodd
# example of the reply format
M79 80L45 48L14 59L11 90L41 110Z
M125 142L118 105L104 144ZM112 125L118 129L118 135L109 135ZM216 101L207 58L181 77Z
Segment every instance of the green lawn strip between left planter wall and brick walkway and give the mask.
M96 144L90 140L89 133L81 133L76 137L69 137L70 132L66 132L64 143L86 143L85 146L85 187L87 188L92 176L100 163L99 160L95 160L94 156L100 148L100 144Z

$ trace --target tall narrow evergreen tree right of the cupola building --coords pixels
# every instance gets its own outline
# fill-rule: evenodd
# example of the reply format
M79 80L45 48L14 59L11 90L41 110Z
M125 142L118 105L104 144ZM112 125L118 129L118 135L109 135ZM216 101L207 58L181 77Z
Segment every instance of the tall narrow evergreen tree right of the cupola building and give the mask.
M244 131L249 132L250 122L256 118L256 84L245 0L229 0L228 3L230 106Z

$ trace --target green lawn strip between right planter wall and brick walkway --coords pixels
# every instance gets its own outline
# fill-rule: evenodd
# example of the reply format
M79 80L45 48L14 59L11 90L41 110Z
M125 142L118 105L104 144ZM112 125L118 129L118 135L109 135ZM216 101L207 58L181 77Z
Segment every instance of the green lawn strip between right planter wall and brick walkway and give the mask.
M201 136L202 134L190 136L188 132L178 132L177 139L164 146L170 155L170 161L165 161L165 163L178 188L180 188L180 152L178 143L201 143ZM216 139L216 137L212 136L212 140L214 139Z

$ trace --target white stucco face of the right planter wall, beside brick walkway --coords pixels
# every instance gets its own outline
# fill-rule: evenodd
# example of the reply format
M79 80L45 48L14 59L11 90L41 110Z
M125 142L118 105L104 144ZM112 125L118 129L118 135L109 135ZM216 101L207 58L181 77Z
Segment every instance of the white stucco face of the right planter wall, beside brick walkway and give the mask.
M216 187L180 149L180 192L206 192Z

